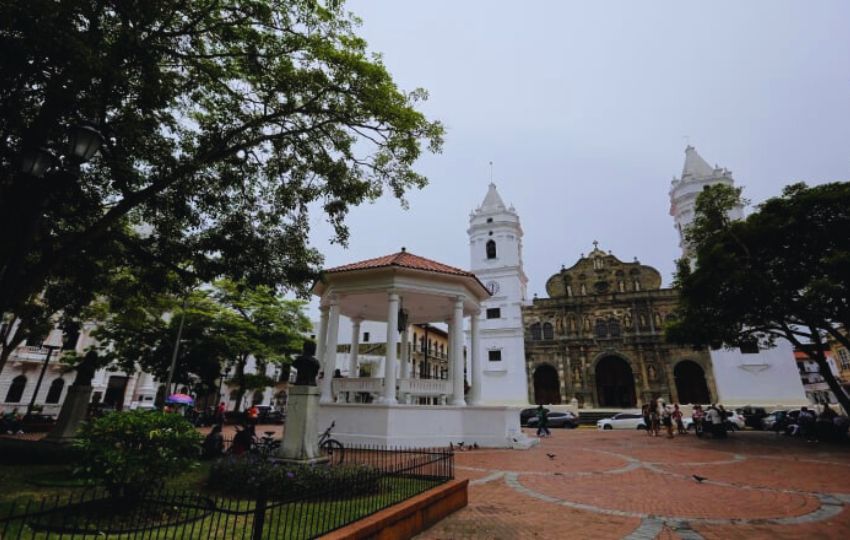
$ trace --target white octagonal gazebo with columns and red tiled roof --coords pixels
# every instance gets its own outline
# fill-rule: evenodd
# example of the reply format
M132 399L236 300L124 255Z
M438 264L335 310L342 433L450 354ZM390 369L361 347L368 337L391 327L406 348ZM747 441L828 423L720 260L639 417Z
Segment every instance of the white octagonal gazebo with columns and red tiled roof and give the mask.
M450 442L490 447L528 447L514 407L483 407L477 401L482 377L478 344L480 303L490 294L471 272L407 252L326 270L313 287L321 298L317 354L321 380L320 426L335 423L334 437L348 443L439 446ZM349 375L333 378L340 316L352 321ZM469 317L469 366L464 358L464 318ZM360 323L386 322L386 352L380 377L357 377ZM409 324L446 323L448 378L412 375ZM464 374L471 379L467 397ZM352 403L355 393L377 396ZM336 393L337 398L334 398ZM419 405L418 397L437 405Z

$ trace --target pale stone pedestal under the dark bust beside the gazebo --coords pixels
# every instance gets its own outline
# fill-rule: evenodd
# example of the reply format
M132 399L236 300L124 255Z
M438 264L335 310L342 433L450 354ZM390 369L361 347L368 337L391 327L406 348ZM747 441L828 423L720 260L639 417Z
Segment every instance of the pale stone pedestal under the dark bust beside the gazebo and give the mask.
M319 453L319 398L317 386L292 386L286 407L283 446L277 456L288 463L323 463L328 458Z

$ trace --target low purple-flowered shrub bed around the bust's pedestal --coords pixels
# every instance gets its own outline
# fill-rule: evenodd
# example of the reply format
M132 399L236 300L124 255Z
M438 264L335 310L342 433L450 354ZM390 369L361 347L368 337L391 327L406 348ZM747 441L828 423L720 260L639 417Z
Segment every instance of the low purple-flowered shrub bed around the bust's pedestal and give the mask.
M256 497L265 490L271 499L309 499L333 489L352 497L378 491L380 471L365 465L295 465L256 456L226 457L210 467L207 486L227 495Z

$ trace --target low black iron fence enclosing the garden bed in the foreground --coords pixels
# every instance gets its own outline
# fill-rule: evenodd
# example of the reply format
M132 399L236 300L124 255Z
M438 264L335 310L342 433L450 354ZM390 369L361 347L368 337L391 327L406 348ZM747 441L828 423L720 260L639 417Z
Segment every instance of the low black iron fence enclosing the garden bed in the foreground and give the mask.
M87 489L9 505L0 511L0 539L315 538L454 478L450 449L345 450L347 464L365 467L344 485L251 498L168 490L121 498Z

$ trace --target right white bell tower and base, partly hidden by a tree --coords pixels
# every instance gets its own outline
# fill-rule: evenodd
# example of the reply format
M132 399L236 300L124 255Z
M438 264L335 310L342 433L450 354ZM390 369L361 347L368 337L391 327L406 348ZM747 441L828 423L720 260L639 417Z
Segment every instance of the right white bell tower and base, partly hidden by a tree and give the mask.
M670 186L670 215L679 233L682 256L689 256L685 235L694 220L694 204L706 186L735 185L732 173L711 167L693 146L685 148L682 176ZM743 206L729 212L733 220L744 218ZM785 341L768 350L718 349L711 351L718 401L727 406L805 405L807 403L794 349Z

